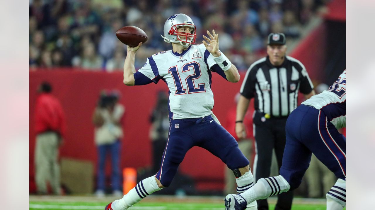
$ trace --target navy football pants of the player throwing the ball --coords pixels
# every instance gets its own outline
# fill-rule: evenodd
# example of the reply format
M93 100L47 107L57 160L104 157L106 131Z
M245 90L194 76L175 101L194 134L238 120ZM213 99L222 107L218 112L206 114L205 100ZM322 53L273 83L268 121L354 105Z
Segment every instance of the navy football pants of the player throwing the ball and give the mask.
M207 149L220 158L229 169L238 169L249 165L249 160L238 148L233 138L211 115L201 118L189 118L169 121L168 141L165 145L159 172L156 178L163 186L169 186L177 168L187 151L193 146ZM199 160L199 157L196 157Z

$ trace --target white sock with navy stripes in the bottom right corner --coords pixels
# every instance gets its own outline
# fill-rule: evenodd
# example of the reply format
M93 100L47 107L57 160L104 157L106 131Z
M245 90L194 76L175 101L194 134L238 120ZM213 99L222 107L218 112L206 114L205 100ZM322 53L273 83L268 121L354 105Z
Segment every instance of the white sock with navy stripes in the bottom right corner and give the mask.
M327 210L342 210L346 205L346 181L338 179L326 194Z

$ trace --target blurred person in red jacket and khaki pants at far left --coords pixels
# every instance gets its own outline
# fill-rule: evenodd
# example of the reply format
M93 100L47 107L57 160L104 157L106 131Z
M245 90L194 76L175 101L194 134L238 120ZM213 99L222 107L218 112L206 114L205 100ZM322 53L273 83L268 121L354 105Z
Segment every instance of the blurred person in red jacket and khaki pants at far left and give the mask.
M56 195L61 194L58 148L66 135L65 114L52 87L43 82L35 105L35 182L38 194L47 194L47 181Z

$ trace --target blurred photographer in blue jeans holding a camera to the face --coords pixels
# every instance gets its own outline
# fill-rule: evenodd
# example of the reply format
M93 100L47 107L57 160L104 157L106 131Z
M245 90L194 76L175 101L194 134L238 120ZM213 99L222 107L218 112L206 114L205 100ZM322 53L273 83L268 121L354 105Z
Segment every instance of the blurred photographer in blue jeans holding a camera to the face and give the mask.
M123 118L125 108L118 103L117 90L103 90L98 106L93 113L95 143L98 146L98 182L96 196L105 195L105 161L107 153L111 157L111 182L114 196L122 196L120 190L120 139L123 138Z

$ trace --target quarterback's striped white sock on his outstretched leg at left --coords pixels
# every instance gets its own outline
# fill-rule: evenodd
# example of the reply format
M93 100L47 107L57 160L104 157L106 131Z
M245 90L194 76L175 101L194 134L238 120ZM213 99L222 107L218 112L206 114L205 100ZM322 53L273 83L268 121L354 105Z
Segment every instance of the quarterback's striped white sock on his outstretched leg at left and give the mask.
M153 192L159 191L155 176L148 177L139 182L133 189L131 189L123 198L115 200L112 203L113 210L126 210L134 204L138 203L143 198L147 197Z

